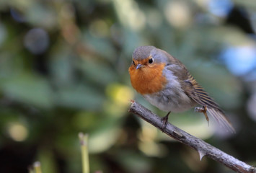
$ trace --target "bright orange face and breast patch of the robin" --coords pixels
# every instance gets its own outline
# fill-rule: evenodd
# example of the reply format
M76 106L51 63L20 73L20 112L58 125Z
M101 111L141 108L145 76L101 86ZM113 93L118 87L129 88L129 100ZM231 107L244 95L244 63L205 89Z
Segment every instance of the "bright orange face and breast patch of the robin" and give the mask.
M131 85L140 94L152 94L162 90L167 80L162 76L164 63L154 64L154 66L144 66L136 69L135 66L130 66L129 74Z

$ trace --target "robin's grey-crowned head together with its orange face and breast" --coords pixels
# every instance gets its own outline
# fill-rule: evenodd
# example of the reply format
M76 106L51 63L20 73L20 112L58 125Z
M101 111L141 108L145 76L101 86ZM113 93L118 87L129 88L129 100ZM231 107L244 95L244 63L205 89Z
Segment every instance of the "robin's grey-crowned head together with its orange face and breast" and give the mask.
M141 94L150 94L162 89L166 83L162 71L167 60L164 51L154 46L136 48L129 68L133 88Z

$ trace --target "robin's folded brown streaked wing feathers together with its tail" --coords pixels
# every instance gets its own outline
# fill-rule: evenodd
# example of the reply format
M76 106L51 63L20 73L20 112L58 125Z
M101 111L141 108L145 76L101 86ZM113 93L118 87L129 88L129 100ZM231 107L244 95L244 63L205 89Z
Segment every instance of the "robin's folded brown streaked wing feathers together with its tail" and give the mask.
M208 96L207 92L204 91L203 87L198 84L197 81L188 74L188 79L185 80L185 85L187 89L187 95L197 102L199 105L206 106L207 112L221 125L225 128L231 130L231 132L235 133L235 130L229 120L225 117L223 110L219 107L219 105L214 102L214 100Z

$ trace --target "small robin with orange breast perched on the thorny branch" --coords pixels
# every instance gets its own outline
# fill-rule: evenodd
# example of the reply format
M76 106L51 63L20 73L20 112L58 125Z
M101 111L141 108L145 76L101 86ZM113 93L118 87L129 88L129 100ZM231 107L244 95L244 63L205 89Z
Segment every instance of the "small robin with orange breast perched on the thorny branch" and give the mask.
M152 45L139 46L133 51L128 72L136 92L151 105L168 112L162 117L162 129L166 128L170 112L184 112L195 107L195 112L203 112L208 125L209 114L226 130L235 133L221 107L198 84L185 65L166 51Z

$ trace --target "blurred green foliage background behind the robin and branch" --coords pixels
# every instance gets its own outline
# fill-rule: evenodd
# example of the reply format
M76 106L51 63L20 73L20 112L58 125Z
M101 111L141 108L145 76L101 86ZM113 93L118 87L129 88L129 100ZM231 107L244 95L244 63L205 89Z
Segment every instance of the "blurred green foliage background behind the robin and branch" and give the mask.
M256 10L253 0L231 2ZM27 172L35 160L43 172L81 172L80 131L89 133L92 172L231 172L128 113L128 99L166 113L131 88L128 66L139 45L185 63L237 134L208 127L192 111L171 115L172 123L255 164L255 122L245 110L253 87L218 58L226 45L255 43L208 3L0 1L0 172Z

